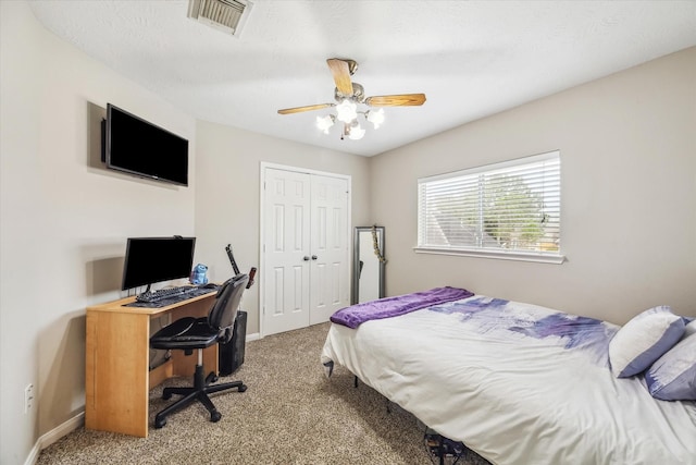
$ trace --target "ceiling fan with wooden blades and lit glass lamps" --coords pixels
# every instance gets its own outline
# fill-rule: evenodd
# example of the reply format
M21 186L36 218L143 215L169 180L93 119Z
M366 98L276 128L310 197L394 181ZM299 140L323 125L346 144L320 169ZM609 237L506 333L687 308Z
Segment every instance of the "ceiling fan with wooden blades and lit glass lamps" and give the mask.
M375 97L365 97L364 88L350 81L350 76L358 70L358 63L355 60L330 58L326 60L328 69L334 76L336 89L334 98L336 103L318 103L304 107L285 108L278 110L279 114L293 114L303 111L321 110L323 108L335 107L336 115L327 114L325 117L316 117L316 125L328 134L328 130L334 125L335 120L344 123L340 138L348 136L351 139L360 139L365 131L358 122L358 114L374 124L375 129L384 122L384 110L381 107L413 107L421 106L425 102L425 94L395 94ZM358 111L358 105L364 105L371 109L366 111ZM374 109L377 107L378 109Z

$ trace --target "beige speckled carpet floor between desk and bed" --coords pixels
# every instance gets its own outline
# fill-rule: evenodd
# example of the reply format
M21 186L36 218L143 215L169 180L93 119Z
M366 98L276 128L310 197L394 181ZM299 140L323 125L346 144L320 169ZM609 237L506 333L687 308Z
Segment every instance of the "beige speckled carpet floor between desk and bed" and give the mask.
M430 464L424 428L371 388L353 388L336 367L326 379L319 360L328 323L247 343L245 364L221 381L241 379L248 390L213 395L219 423L194 404L169 417L154 414L171 401L150 393L149 438L79 428L41 451L38 464ZM190 379L165 386L188 384ZM174 396L173 399L178 399ZM458 464L487 464L471 453Z

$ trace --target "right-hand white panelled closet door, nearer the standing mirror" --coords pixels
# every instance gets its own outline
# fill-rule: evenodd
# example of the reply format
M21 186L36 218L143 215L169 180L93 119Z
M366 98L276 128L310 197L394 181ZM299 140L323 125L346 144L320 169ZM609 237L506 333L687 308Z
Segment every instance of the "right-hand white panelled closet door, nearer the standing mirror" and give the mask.
M310 325L349 303L348 181L312 175Z

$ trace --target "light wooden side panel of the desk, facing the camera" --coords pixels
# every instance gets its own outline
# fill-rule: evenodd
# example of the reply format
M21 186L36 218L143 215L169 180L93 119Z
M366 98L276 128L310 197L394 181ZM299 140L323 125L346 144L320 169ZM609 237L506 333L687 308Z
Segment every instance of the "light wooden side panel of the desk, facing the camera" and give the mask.
M150 317L87 311L85 427L147 438Z

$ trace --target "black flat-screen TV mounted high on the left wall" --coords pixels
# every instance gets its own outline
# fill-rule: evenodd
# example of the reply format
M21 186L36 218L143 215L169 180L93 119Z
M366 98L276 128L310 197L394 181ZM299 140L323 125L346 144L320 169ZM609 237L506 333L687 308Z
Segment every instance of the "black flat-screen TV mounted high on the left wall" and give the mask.
M188 185L188 140L111 103L104 145L110 169Z

